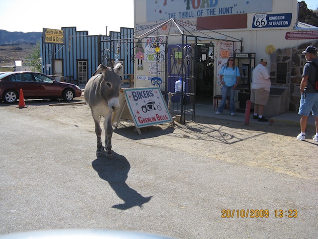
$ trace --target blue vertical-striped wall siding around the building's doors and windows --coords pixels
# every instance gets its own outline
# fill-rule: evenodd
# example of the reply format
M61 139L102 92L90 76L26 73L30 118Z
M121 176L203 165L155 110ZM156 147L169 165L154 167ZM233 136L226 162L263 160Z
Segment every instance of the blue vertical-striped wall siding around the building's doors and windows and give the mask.
M111 39L123 39L133 37L133 28L121 27L120 32L110 31L108 36L93 35L89 36L88 31L76 31L76 27L63 27L65 33L65 45L60 44L41 44L43 73L53 75L52 54L55 53L55 60L63 61L63 76L73 76L78 79L77 62L87 61L87 74L89 77L95 72L100 63L103 62L103 50L109 49L109 58L115 59L116 41L105 41ZM124 74L134 74L131 54L133 43L121 42L119 44L119 60L124 62ZM105 63L106 64L106 63Z

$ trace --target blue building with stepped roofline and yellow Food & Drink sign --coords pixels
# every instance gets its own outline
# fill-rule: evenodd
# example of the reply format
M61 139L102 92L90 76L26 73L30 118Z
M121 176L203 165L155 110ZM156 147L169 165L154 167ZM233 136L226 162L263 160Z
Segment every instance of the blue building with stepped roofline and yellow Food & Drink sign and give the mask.
M42 43L42 72L55 78L85 85L99 64L109 65L119 61L123 64L123 78L133 74L131 49L133 42L122 38L133 36L133 28L121 27L120 32L105 35L88 35L76 27L62 27L65 44Z

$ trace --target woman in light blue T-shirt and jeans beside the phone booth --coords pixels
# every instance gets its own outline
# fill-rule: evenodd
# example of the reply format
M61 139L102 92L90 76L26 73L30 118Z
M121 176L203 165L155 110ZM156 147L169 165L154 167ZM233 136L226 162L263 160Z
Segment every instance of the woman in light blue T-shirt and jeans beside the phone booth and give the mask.
M235 66L234 57L230 57L227 61L227 64L223 66L220 71L220 81L223 85L222 101L218 111L215 113L216 115L223 114L225 103L227 102L228 94L230 92L230 113L231 116L235 116L234 96L239 85L239 77L239 68Z

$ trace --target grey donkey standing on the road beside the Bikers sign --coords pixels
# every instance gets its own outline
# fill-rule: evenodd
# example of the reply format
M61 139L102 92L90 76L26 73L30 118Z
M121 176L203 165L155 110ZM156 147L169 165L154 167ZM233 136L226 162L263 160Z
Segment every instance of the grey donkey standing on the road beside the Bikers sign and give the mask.
M119 105L119 90L121 80L118 72L122 65L118 63L114 68L100 64L92 77L88 80L84 89L84 99L91 110L95 122L95 133L97 136L96 156L105 155L101 142L100 119L104 117L105 148L107 155L111 155L111 136L113 126L111 118L113 112L117 111Z

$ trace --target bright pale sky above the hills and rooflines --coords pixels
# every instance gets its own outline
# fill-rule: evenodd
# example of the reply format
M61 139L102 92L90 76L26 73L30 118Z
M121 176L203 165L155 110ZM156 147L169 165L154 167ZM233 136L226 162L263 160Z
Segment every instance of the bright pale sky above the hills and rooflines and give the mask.
M305 0L317 9L317 0ZM89 3L89 4L87 4ZM0 0L0 29L42 32L76 26L89 35L134 27L134 0Z

